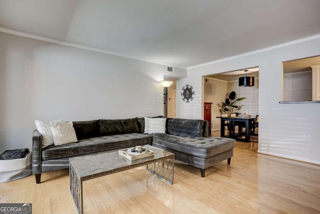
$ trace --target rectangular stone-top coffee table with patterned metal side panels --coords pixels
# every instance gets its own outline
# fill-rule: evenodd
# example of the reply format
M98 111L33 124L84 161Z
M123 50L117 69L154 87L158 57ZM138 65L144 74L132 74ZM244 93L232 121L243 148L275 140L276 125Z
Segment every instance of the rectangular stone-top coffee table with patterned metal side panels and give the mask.
M112 151L69 158L70 192L78 212L83 213L82 182L85 180L146 165L147 171L172 184L174 154L150 145L144 147L151 149L154 156L130 161L118 151Z

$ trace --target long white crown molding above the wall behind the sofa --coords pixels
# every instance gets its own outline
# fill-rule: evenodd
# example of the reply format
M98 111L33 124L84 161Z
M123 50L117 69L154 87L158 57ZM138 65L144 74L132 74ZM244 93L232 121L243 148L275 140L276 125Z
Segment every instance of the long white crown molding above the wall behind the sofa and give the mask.
M102 53L102 54L109 54L109 55L114 55L114 56L118 56L118 57L124 57L124 58L128 58L128 59L139 60L139 61L148 62L148 63L154 63L154 64L158 64L158 65L176 67L176 68L180 68L180 69L185 69L186 70L186 68L178 67L178 66L175 66L175 65L168 65L168 64L157 62L157 61L153 61L153 60L131 57L131 56L125 55L125 54L119 54L119 53L116 53L116 52L105 51L103 49L92 48L92 47L88 47L88 46L84 46L84 45L78 45L78 44L70 43L70 42L63 42L63 41L60 41L60 40L55 40L55 39L51 39L51 38L47 38L47 37L41 37L41 36L37 36L37 35L34 35L34 34L28 34L28 33L20 32L20 31L14 31L14 30L7 29L7 28L1 28L0 27L0 32L16 35L16 36L20 36L20 37L25 37L25 38L29 38L29 39L34 39L34 40L40 40L40 41L44 41L44 42L54 43L54 44L58 44L58 45L69 46L69 47L72 47L72 48L79 48L79 49L83 49L83 50L87 50L87 51L94 51L94 52L98 52L98 53Z

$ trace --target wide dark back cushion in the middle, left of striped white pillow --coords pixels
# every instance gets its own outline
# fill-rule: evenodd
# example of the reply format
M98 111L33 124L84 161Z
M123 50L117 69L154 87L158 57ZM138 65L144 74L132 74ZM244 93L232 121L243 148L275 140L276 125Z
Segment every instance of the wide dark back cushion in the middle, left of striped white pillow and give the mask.
M99 120L99 126L100 136L140 132L136 118L122 120Z

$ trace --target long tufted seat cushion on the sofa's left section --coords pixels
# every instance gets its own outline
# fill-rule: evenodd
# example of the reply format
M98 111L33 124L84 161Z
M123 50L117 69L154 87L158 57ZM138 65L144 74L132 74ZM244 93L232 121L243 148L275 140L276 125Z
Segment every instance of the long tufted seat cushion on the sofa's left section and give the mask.
M71 157L81 154L120 149L136 145L152 143L152 136L140 133L109 135L82 139L76 143L49 146L42 150L42 159L49 160L61 157Z

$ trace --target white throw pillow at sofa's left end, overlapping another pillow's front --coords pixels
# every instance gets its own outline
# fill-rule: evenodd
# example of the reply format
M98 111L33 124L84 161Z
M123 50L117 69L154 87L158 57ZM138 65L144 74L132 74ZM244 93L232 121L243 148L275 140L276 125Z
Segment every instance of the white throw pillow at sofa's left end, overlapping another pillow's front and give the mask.
M54 145L78 141L72 122L50 122Z

